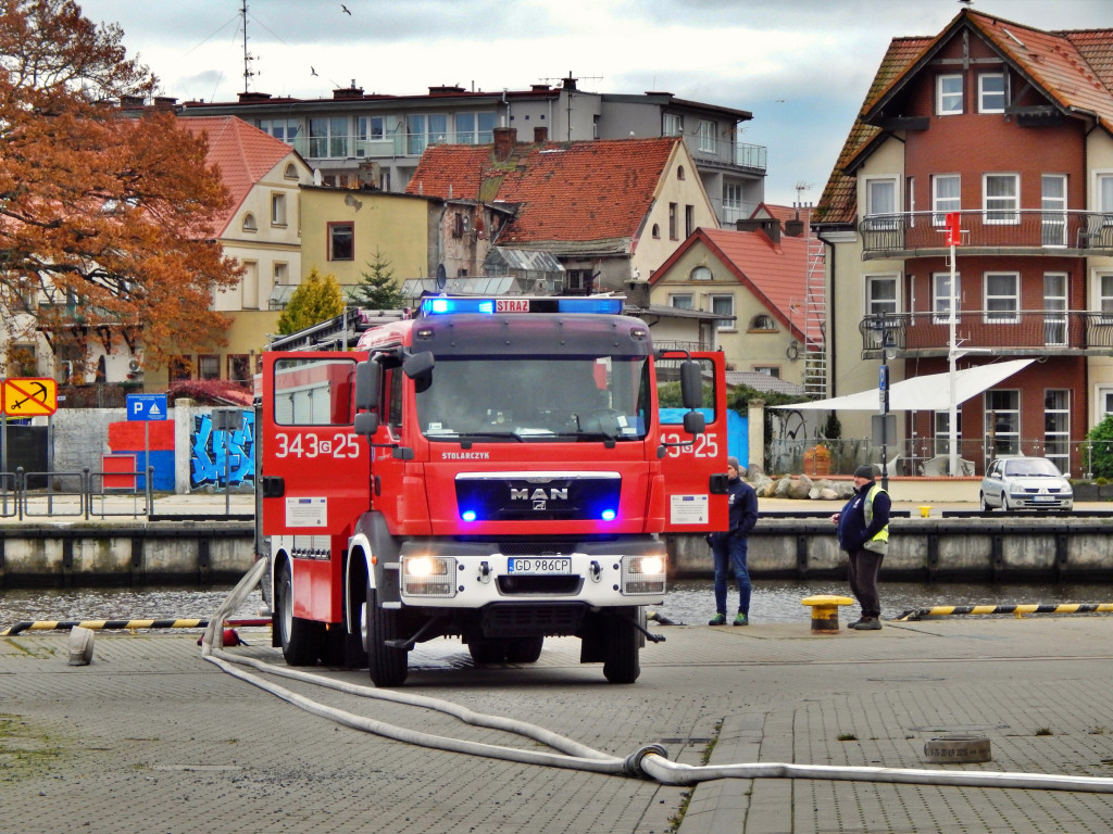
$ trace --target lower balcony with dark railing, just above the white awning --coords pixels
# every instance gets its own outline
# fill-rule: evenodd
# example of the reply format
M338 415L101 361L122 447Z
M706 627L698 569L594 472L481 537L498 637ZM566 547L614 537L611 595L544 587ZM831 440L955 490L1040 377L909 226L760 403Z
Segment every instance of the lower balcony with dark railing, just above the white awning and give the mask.
M947 356L951 319L942 312L866 316L858 324L861 357ZM995 356L1113 356L1113 314L1092 310L959 310L955 338L964 349Z

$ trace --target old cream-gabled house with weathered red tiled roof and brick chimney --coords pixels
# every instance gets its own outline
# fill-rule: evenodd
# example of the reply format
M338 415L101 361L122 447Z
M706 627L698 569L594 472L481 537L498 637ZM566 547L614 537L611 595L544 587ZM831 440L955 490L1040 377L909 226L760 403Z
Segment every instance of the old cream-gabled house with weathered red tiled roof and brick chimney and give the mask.
M513 207L492 244L552 254L568 292L621 291L697 227L718 225L679 138L534 139L496 128L492 145L430 147L407 193Z

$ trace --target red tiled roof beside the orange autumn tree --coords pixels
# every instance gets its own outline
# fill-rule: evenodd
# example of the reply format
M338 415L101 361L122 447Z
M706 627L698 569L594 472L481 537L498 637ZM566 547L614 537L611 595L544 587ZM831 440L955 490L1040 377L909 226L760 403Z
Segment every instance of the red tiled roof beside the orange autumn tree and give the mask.
M194 135L208 136L207 161L220 168L220 178L232 195L228 210L217 218L215 232L220 237L252 188L294 149L235 116L190 116L178 119L178 125Z

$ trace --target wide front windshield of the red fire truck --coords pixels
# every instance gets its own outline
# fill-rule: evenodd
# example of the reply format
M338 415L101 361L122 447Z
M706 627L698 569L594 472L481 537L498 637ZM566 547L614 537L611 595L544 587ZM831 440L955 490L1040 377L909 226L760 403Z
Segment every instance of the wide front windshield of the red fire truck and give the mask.
M649 428L646 357L437 357L417 385L431 440L638 440Z

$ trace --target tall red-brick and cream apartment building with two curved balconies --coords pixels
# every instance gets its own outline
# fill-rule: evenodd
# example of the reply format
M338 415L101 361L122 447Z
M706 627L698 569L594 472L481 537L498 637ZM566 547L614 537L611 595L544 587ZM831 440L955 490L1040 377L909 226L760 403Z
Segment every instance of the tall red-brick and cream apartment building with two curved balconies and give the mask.
M1084 474L1080 441L1113 411L1111 131L1113 30L967 8L894 39L814 215L830 391L876 388L883 361L896 381L1028 358L958 405L957 454ZM868 413L839 417L869 435ZM949 408L897 417L896 474L951 453Z

